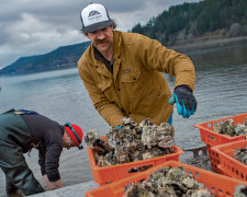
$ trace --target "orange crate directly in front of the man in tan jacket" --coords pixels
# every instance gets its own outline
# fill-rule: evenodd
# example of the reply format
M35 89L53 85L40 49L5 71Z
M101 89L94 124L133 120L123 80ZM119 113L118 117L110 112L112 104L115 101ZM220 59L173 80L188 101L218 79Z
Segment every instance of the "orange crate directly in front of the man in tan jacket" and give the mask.
M105 136L101 137L104 141L106 139ZM108 165L108 166L99 166L96 163L94 160L94 153L91 148L88 147L88 155L89 155L89 162L92 170L92 175L94 178L94 182L99 185L104 185L114 181L117 181L120 178L128 177L130 175L139 173L139 172L130 172L134 170L135 167L142 167L142 166L157 166L166 161L179 161L179 155L183 154L184 152L178 148L177 146L171 147L175 151L175 153L171 154L165 154L162 157L151 158L147 160L141 160L124 164L117 164L117 165Z

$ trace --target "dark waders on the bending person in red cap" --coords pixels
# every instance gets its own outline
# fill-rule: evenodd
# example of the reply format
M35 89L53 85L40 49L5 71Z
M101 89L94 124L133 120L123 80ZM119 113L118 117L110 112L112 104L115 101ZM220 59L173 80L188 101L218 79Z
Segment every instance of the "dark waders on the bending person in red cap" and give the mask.
M10 196L20 189L25 196L44 192L23 157L29 129L20 115L0 114L0 167L5 174Z

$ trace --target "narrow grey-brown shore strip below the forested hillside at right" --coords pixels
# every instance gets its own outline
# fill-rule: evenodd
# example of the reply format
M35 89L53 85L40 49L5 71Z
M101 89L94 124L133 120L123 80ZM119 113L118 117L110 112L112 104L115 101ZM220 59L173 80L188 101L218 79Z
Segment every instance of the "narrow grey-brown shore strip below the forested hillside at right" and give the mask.
M178 44L178 45L173 45L173 46L168 46L167 48L171 48L171 49L178 50L180 53L191 53L191 51L195 51L198 49L233 46L233 44L234 45L247 44L247 36L209 39L209 40L202 40L202 42L191 40L190 44L188 44L188 43Z

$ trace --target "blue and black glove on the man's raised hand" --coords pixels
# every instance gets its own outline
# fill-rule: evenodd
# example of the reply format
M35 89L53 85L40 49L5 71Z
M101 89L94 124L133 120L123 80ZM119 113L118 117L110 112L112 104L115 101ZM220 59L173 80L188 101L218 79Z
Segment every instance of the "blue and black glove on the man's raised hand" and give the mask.
M198 102L192 91L187 85L176 86L173 94L169 99L169 104L177 104L178 114L189 118L197 111Z

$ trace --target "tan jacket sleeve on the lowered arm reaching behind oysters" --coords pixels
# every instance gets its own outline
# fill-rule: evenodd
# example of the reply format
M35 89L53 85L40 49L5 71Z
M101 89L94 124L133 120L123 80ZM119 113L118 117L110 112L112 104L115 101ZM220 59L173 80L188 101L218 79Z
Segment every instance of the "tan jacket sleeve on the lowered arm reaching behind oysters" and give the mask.
M108 97L99 90L92 77L85 70L79 68L80 78L83 81L86 89L88 90L89 96L93 103L93 106L99 112L99 114L105 119L105 121L116 127L121 124L121 119L124 117L123 113L119 106L108 100Z

